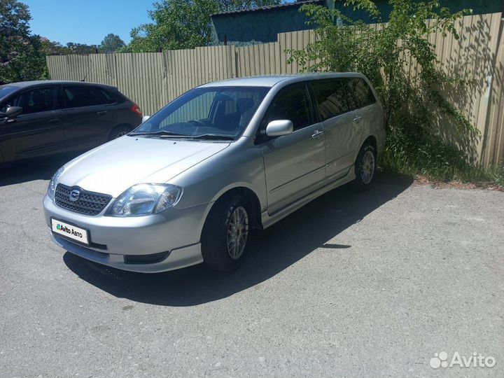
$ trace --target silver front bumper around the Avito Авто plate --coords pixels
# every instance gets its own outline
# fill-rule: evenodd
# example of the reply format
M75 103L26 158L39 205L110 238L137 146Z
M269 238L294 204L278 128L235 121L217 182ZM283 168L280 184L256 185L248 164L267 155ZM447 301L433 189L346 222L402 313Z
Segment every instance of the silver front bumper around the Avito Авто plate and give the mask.
M188 209L168 209L153 216L119 218L86 216L57 207L46 195L45 222L56 244L88 260L133 272L164 272L203 261L200 236L209 204ZM51 218L89 232L90 246L69 241L50 230ZM167 253L163 260L132 263L127 256Z

